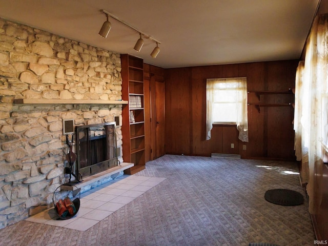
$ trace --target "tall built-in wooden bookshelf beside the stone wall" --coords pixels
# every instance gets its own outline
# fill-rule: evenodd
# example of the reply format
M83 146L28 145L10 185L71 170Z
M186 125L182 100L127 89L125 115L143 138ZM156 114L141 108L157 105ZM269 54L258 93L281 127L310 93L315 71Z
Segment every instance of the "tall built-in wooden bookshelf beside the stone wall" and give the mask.
M122 148L125 162L134 167L125 170L134 174L145 169L145 110L144 110L144 61L124 54L122 64L122 99L128 105L122 108Z

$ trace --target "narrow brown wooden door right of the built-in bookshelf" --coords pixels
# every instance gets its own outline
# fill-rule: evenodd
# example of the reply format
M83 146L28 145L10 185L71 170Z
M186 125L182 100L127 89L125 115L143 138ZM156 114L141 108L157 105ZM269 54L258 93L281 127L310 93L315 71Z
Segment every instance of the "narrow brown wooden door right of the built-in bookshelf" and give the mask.
M156 151L154 158L165 155L165 83L155 80Z

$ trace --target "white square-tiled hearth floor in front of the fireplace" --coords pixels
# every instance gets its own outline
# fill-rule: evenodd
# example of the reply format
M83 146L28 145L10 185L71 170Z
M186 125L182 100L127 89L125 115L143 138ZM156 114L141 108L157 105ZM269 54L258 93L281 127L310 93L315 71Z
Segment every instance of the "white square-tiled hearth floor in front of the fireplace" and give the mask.
M158 185L164 179L123 175L81 194L80 208L73 218L58 220L58 216L52 208L31 216L26 220L77 231L86 231L136 197Z

